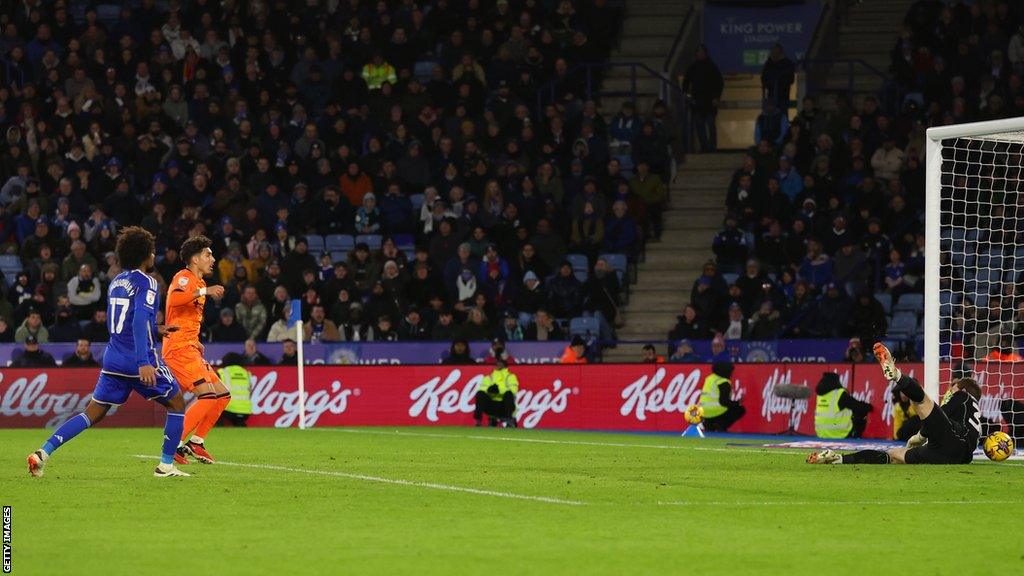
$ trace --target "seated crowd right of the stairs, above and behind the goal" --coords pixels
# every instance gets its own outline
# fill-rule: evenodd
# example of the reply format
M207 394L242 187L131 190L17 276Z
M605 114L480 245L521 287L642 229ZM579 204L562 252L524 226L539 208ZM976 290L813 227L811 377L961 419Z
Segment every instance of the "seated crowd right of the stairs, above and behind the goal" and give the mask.
M885 88L856 102L840 95L828 113L814 93L792 116L778 106L773 87L792 83L794 63L776 47L715 259L669 338L920 337L925 131L1024 114L1022 15L1008 2L915 2ZM720 75L697 61L692 93L713 98Z

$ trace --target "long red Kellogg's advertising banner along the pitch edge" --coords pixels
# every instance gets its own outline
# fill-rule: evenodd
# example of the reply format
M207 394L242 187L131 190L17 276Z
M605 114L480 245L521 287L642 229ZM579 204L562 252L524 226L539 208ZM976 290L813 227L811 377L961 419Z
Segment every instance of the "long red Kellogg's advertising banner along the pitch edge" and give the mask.
M904 372L923 373L920 364ZM485 366L312 366L305 372L306 423L336 425L467 425ZM515 366L520 389L517 418L523 427L677 431L682 413L698 401L710 365ZM746 415L730 431L785 430L791 413L798 431L814 434L812 396L791 404L776 397L780 384L810 386L836 372L848 390L874 406L865 436L888 438L892 427L889 383L872 364L738 364L734 397ZM254 426L296 426L299 394L295 368L255 367ZM0 427L53 426L82 410L95 369L0 370ZM1008 372L1009 374L1009 372ZM1011 381L992 379L983 404L1024 386L1024 370ZM991 398L988 398L991 396ZM997 411L996 411L997 412ZM164 410L135 396L101 425L163 425ZM996 414L997 417L997 414Z

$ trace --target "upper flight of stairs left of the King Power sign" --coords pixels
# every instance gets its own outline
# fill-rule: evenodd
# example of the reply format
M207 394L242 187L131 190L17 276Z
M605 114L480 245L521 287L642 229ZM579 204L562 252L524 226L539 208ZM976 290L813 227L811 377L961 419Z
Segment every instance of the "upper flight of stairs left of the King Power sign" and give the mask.
M629 0L618 47L612 50L609 63L642 64L663 74L670 56L676 33L694 2L690 0ZM613 67L608 71L602 90L623 94L633 89L634 71L630 67ZM670 78L671 80L671 78ZM637 110L645 115L662 95L662 80L645 72L636 75ZM627 95L601 98L601 108L610 118L618 112Z

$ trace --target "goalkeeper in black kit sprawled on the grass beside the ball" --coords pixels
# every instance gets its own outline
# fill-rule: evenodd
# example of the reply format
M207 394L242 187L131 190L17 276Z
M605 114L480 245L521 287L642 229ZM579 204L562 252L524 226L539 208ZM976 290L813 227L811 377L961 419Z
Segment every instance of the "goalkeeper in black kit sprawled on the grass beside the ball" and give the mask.
M907 442L906 448L888 451L861 450L838 454L831 450L814 452L807 457L809 464L968 464L981 437L981 412L978 400L981 388L971 378L959 378L949 384L939 408L925 395L921 384L904 376L889 349L874 344L874 358L882 372L895 382L894 393L902 393L921 417L921 433Z

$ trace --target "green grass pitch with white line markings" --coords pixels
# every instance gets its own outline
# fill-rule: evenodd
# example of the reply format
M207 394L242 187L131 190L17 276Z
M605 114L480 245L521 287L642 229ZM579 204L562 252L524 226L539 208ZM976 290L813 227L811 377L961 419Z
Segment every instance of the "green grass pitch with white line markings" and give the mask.
M523 429L218 428L220 459L279 468L155 479L134 455L159 451L160 433L142 428L88 430L33 479L25 456L45 436L0 430L14 574L1024 573L1014 463L810 466L721 440Z

